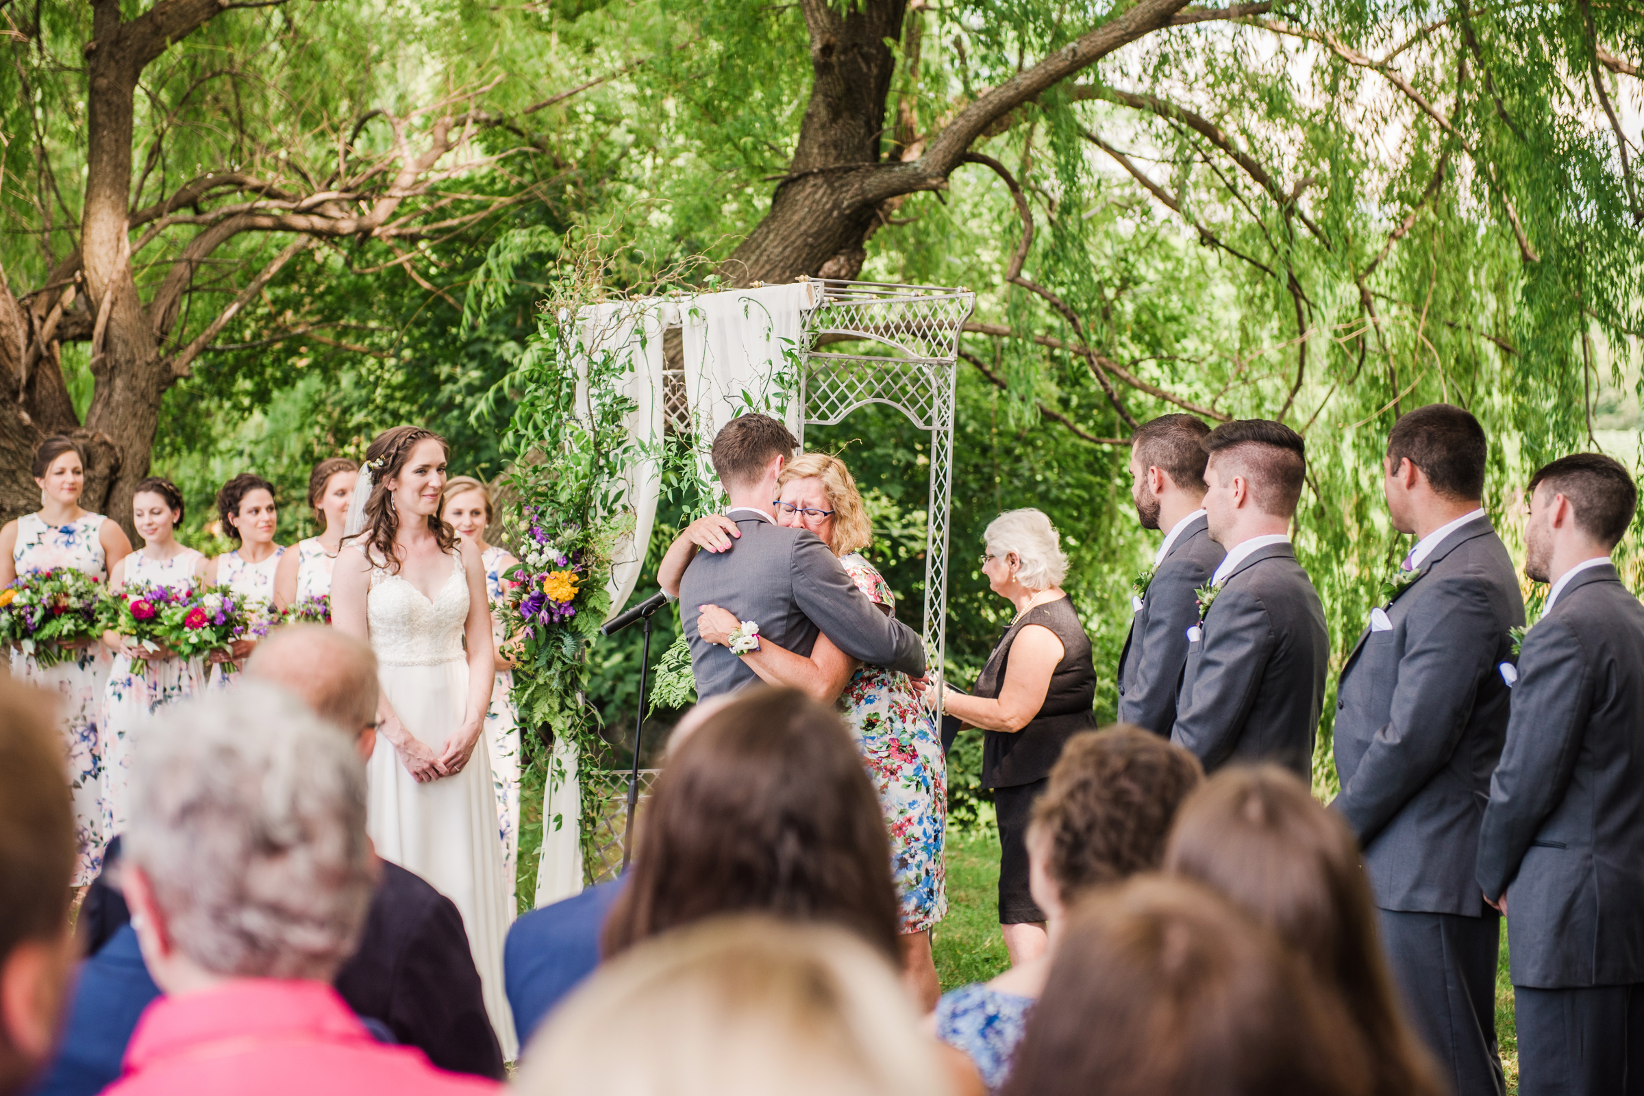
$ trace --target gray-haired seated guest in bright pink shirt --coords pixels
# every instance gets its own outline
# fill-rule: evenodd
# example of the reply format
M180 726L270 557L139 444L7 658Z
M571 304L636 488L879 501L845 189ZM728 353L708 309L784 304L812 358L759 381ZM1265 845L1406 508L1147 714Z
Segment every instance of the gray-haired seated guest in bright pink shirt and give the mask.
M115 1096L457 1096L496 1083L373 1040L330 979L376 861L365 766L289 693L245 682L136 741L125 896L166 996L138 1020Z

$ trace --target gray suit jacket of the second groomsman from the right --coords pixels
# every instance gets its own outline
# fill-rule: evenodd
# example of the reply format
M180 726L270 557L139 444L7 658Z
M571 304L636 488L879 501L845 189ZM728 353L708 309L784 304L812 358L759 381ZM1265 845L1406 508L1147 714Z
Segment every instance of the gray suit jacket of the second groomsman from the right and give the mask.
M1509 628L1524 598L1508 549L1478 518L1422 562L1366 624L1337 685L1332 804L1358 835L1376 905L1478 917L1478 822L1508 730Z

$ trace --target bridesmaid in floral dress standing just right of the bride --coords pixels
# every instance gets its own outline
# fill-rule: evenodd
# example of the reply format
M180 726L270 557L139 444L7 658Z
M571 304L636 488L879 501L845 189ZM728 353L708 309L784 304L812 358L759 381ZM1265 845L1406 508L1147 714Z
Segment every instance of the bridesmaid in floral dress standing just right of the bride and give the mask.
M506 638L496 606L505 592L503 575L518 564L508 549L485 542L485 526L492 523L492 493L473 477L452 477L441 500L441 518L457 529L457 536L480 549L485 564L485 593L492 601L492 641L496 644L496 684L492 707L485 711L485 744L492 753L492 784L496 790L496 830L503 840L503 873L508 879L508 909L518 909L516 879L520 859L520 718L508 693L513 690L513 662L503 656Z

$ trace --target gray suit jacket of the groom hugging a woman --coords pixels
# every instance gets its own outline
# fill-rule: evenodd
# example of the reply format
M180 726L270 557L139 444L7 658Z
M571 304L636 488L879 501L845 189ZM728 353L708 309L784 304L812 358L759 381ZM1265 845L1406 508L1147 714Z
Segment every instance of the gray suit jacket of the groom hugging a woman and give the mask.
M697 697L755 684L758 675L727 647L697 634L700 605L718 605L760 624L760 636L807 656L825 633L845 654L919 677L924 641L886 616L845 573L838 557L814 532L738 518L741 537L728 552L697 552L679 583L679 616L690 642Z

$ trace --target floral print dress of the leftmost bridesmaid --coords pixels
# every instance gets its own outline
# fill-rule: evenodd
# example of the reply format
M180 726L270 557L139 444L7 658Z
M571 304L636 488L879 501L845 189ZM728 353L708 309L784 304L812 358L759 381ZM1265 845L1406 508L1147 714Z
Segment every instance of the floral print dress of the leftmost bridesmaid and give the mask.
M109 578L109 559L97 534L102 514L85 514L66 526L48 526L36 514L16 519L16 547L12 562L16 573L72 567L99 580ZM109 647L94 642L71 662L41 667L31 654L12 652L12 677L49 688L62 697L62 739L69 754L69 787L74 792L74 886L84 886L102 871L107 838L102 828L102 789L97 769L102 744L97 716L102 708L104 680L109 677Z

